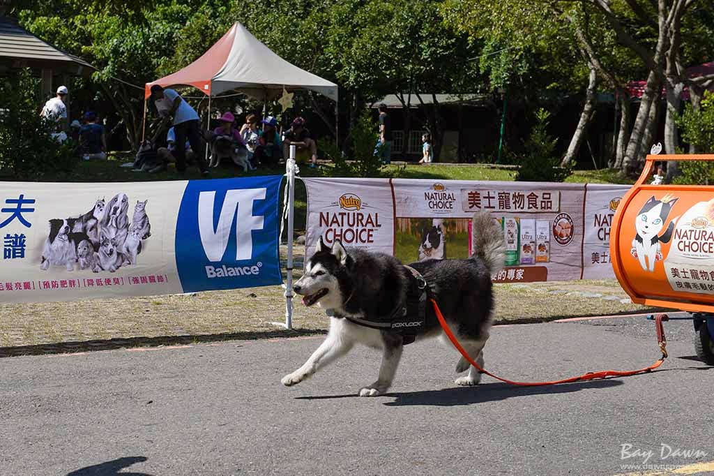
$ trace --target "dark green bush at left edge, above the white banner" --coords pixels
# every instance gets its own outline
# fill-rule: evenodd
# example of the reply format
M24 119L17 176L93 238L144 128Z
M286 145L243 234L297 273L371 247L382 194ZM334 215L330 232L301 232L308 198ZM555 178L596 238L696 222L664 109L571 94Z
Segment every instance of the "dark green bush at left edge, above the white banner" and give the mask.
M38 114L39 81L29 70L0 83L0 174L16 180L52 179L77 163L73 144L58 144Z

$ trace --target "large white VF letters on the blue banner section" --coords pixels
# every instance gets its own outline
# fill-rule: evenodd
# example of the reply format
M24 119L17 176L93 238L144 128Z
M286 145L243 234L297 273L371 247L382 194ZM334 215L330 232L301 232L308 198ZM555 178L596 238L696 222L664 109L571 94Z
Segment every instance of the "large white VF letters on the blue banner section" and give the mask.
M236 222L236 261L251 259L253 230L263 229L263 216L253 216L253 202L265 198L265 188L226 191L226 197L218 214L218 224L214 227L216 192L198 194L198 233L201 235L203 252L206 253L208 261L218 262L223 259L223 254L228 247L228 239L231 237L233 219Z

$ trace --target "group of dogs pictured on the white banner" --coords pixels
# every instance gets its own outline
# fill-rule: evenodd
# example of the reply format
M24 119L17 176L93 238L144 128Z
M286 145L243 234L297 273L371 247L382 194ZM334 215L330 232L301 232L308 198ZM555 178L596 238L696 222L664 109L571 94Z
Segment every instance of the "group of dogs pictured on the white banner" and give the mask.
M146 204L137 201L129 221L129 197L114 195L107 203L98 199L89 212L66 219L49 220L40 269L63 266L74 271L115 272L122 266L136 265L142 241L151 236L151 223Z

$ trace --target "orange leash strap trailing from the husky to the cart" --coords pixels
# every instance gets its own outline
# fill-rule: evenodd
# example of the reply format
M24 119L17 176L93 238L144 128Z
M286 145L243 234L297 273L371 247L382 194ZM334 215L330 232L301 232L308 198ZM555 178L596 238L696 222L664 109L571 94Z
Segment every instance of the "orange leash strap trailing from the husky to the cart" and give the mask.
M463 347L461 347L461 344L458 343L458 340L454 336L453 332L451 332L451 329L448 327L448 324L446 324L446 319L444 319L443 314L441 314L441 309L439 309L438 304L436 304L436 301L434 299L431 299L431 304L434 307L434 312L436 312L436 317L439 319L439 324L441 324L441 328L444 330L446 333L446 336L451 340L451 343L453 344L453 347L456 347L458 352L461 352L461 355L463 355L463 358L468 361L473 367L476 367L476 369L479 370L482 374L490 375L491 377L495 378L496 380L501 380L501 382L506 382L511 385L521 385L522 387L540 387L543 385L555 385L555 384L561 384L561 383L570 383L570 382L582 382L585 380L597 380L597 379L604 379L607 377L628 377L630 375L637 375L641 374L644 372L652 372L655 370L657 367L662 365L662 362L665 361L665 358L667 357L667 350L666 350L666 345L667 345L667 339L665 338L665 332L662 327L662 322L663 321L668 321L669 318L667 317L667 314L657 314L655 317L655 324L657 325L657 339L658 339L658 344L660 346L660 350L662 351L662 357L660 357L660 360L657 362L653 363L653 365L650 365L649 367L645 367L644 369L640 370L601 370L600 372L588 372L583 375L579 375L578 377L570 377L569 379L563 379L563 380L553 380L552 382L513 382L513 380L508 380L508 379L503 379L501 377L498 377L498 375L493 375L491 372L488 372L488 370L484 370L479 366L466 352Z

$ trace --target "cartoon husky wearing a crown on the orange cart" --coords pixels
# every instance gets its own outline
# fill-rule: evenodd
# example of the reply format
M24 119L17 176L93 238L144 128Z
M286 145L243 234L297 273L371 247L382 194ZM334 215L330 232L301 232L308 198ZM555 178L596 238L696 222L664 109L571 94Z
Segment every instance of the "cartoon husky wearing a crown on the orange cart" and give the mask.
M632 240L632 254L645 271L655 270L655 261L662 259L660 243L668 243L672 238L672 231L678 217L670 222L663 234L660 232L677 200L670 194L666 194L661 200L655 199L654 196L650 197L637 214L635 219L637 234Z

